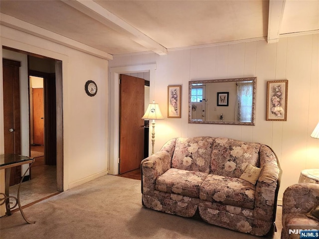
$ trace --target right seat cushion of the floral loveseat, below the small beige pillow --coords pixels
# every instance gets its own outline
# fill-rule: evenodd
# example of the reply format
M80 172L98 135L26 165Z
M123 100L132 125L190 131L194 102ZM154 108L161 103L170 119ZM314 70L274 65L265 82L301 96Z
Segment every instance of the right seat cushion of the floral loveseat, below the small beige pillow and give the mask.
M253 209L255 185L234 177L209 174L200 186L199 198L241 208Z

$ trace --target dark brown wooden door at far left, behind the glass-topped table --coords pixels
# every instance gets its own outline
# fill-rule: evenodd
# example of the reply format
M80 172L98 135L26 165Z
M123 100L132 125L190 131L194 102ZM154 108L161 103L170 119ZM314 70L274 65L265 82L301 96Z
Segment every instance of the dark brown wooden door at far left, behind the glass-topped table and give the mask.
M4 153L21 154L20 62L2 59ZM21 166L11 169L10 186L21 180Z

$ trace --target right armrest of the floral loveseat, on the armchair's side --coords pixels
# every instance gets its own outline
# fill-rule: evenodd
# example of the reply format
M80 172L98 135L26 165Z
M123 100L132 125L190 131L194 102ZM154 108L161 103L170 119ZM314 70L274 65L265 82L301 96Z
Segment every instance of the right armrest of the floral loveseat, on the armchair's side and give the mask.
M270 147L261 145L259 160L262 170L255 192L255 218L274 222L282 172L277 156Z

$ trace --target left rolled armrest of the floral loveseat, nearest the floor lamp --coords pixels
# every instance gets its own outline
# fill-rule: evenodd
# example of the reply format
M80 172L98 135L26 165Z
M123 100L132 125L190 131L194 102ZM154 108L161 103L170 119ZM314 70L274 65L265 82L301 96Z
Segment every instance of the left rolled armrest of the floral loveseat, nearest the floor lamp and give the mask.
M142 193L154 195L155 181L171 165L171 156L167 151L159 151L141 162Z

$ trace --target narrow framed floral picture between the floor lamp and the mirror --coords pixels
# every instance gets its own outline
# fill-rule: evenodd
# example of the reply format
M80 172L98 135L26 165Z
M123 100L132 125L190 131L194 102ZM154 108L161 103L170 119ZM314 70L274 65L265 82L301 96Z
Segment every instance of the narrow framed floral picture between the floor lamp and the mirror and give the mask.
M181 85L167 87L167 118L181 118Z

